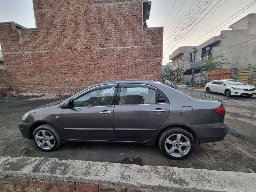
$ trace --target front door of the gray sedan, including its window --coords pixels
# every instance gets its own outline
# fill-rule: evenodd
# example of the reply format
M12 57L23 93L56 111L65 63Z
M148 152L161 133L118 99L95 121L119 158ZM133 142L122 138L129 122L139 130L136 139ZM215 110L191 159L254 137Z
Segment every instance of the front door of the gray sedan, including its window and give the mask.
M70 108L63 109L61 124L69 140L116 140L113 111L117 85L91 88L76 96Z

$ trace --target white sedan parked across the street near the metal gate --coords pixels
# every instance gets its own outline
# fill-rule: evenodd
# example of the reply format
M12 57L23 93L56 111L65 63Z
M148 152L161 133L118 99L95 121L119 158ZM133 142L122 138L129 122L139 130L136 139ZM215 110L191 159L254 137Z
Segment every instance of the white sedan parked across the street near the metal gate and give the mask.
M207 93L218 92L223 93L227 97L231 95L243 95L248 97L256 95L254 86L234 79L214 80L207 83L204 89Z

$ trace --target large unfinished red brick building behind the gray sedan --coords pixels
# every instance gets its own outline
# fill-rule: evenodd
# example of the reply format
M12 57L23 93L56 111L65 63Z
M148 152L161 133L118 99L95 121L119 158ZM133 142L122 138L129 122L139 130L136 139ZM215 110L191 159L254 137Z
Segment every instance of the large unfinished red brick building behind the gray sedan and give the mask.
M160 80L163 27L148 0L34 0L36 28L0 23L1 94L72 94L114 79Z

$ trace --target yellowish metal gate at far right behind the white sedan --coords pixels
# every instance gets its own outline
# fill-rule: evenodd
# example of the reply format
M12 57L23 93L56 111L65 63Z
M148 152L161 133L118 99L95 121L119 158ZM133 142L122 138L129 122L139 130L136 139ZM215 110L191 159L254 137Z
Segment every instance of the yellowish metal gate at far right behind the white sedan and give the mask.
M256 85L256 68L237 69L232 72L232 79L242 81L246 84Z

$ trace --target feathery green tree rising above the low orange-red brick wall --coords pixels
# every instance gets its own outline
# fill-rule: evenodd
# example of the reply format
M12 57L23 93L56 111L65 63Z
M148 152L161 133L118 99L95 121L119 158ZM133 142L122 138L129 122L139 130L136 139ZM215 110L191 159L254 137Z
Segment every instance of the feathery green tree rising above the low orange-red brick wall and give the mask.
M223 58L223 55L219 55L216 57L208 57L208 60L201 60L196 65L196 68L201 68L200 73L204 71L212 71L217 69L222 69L224 64L229 64L228 60Z

